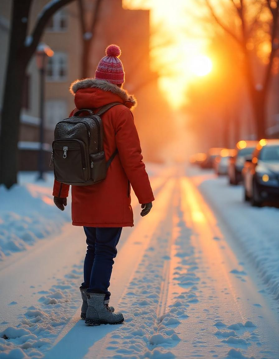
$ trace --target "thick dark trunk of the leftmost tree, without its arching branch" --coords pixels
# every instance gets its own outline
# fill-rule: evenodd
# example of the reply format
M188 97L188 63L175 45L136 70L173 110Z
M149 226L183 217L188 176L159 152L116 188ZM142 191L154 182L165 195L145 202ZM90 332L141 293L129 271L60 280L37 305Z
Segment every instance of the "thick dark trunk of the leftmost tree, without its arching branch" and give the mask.
M28 62L22 46L27 33L27 22L22 22L21 19L24 17L28 19L30 4L30 0L13 2L0 135L0 183L4 183L7 188L16 183L18 169L17 146L21 99Z

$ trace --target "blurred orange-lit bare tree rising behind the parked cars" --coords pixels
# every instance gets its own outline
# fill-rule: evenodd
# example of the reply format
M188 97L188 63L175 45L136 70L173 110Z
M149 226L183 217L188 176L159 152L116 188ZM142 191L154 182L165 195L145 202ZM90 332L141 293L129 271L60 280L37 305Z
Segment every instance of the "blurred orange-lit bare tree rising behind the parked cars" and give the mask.
M237 43L242 52L245 78L254 112L256 136L258 139L264 138L272 67L279 48L279 0L225 0L222 4L229 4L230 8L225 10L226 16L223 17L218 12L221 4L218 3L217 7L211 0L202 1L207 6L211 18ZM264 33L262 38L259 32ZM264 41L269 43L270 51L266 64L263 65L263 80L259 83L253 70L255 51L253 52L252 49L259 47Z

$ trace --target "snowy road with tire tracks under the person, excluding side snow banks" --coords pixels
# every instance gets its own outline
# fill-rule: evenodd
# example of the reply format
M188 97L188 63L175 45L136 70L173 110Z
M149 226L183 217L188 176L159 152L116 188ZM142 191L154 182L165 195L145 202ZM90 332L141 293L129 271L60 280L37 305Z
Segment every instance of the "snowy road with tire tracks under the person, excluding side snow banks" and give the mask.
M80 320L81 228L66 225L0 266L1 288L9 288L1 291L1 317L9 323L1 323L0 358L278 357L275 301L197 189L212 175L182 172L154 171L156 201L145 218L133 198L135 226L123 230L110 286L122 325L88 327Z

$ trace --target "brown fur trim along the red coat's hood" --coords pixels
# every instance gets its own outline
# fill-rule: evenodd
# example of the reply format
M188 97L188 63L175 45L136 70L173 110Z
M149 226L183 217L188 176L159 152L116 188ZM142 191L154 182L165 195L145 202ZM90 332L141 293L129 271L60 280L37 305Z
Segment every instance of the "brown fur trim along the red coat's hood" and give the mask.
M70 92L72 95L76 95L79 89L99 89L104 92L111 92L114 95L119 96L123 100L123 104L128 108L134 108L137 105L137 100L127 93L126 90L121 89L117 85L111 84L105 80L98 80L98 79L83 79L83 80L76 80L70 86Z

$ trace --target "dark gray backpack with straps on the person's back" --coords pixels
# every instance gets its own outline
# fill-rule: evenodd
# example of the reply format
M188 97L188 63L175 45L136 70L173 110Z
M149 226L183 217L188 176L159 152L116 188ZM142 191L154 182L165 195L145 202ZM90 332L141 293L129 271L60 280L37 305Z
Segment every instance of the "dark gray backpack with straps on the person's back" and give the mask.
M103 123L101 115L120 104L109 103L97 113L91 109L81 109L72 117L57 123L52 142L50 166L53 163L56 181L74 186L94 185L104 180L117 149L105 162L103 148ZM82 112L88 116L79 117Z

